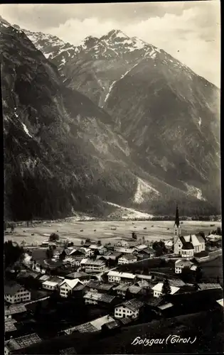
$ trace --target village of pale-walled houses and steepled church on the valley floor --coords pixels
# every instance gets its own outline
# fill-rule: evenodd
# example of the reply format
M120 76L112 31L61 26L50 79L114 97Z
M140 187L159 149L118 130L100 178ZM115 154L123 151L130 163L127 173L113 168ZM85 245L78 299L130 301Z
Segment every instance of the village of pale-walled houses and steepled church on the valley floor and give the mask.
M106 344L138 324L221 317L221 234L182 235L177 206L166 241L134 232L114 244L63 245L57 233L33 248L6 241L4 354L90 354L85 337Z

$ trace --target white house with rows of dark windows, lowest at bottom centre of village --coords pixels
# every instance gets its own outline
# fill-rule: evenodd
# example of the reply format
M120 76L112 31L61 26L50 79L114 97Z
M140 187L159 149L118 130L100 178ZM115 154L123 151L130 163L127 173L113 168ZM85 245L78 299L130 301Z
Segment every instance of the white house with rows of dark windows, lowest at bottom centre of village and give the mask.
M129 300L125 301L114 308L115 318L132 317L132 319L137 319L139 317L139 312L144 307L144 302L139 300Z

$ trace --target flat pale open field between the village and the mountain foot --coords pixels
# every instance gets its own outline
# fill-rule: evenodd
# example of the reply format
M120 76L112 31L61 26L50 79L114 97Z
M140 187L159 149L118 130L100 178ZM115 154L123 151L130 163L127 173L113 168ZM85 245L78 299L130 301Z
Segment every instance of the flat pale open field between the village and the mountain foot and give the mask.
M210 226L210 224L214 226ZM183 235L195 234L198 231L204 231L207 235L208 231L216 229L218 226L221 226L220 222L184 221L181 224ZM116 228L116 230L112 230L112 228ZM132 231L137 234L138 239L144 236L146 241L171 239L173 228L174 222L172 221L78 222L70 220L70 222L36 224L33 227L16 226L12 234L4 236L4 240L16 241L18 244L23 240L26 241L26 244L41 244L42 241L48 239L51 233L58 232L60 239L69 239L75 245L80 245L80 241L87 238L100 239L103 244L108 242L113 244L117 239L132 239ZM31 234L34 235L31 236Z

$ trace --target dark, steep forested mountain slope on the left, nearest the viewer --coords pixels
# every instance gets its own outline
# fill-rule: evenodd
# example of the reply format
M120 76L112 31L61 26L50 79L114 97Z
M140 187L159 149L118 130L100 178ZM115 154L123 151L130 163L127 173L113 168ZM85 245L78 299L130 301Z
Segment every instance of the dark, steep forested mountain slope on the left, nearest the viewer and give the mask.
M110 116L65 87L22 31L2 21L0 30L6 216L102 214L102 198L128 200L136 178Z

